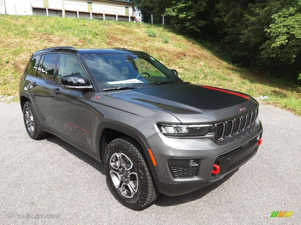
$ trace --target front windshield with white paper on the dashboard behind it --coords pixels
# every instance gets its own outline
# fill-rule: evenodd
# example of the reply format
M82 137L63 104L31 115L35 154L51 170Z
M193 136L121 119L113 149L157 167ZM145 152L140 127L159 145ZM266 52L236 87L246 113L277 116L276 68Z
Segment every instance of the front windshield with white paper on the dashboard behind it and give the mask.
M101 89L146 87L159 82L183 82L150 55L83 55Z

